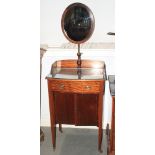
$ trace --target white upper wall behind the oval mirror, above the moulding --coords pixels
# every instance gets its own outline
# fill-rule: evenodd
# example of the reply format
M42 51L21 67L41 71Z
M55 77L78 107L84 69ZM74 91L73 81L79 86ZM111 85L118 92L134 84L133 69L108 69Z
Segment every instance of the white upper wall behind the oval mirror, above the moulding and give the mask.
M40 43L55 46L68 42L61 30L65 8L75 2L86 4L95 17L95 30L89 42L114 42L114 0L40 0Z

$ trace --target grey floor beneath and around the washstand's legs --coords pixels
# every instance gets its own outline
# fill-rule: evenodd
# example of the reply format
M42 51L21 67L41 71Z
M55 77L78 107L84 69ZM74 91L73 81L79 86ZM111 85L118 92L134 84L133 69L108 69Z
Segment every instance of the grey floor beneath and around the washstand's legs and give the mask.
M63 128L57 129L56 150L53 151L50 127L42 127L45 139L40 145L40 155L107 155L106 135L103 131L102 150L98 152L98 130Z

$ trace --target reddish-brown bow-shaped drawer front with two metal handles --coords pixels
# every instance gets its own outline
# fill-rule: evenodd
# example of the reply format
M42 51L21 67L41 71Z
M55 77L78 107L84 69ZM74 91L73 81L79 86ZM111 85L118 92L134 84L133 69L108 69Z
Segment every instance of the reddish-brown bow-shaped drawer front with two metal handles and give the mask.
M73 93L98 93L102 88L101 81L88 80L48 80L51 91L73 92Z

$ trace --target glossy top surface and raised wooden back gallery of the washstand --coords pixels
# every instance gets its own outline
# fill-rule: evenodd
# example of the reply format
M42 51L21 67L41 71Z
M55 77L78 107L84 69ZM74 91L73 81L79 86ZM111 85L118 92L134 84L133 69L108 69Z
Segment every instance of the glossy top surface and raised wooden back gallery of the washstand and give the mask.
M59 60L51 68L47 79L106 79L106 69L103 61L82 60L81 68L77 67L76 60Z

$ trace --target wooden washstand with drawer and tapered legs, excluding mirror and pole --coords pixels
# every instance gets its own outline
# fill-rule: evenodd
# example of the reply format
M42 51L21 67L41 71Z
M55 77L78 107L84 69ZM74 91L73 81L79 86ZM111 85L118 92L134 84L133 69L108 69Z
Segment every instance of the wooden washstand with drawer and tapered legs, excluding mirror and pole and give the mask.
M53 148L56 147L56 124L98 126L98 149L102 143L102 110L105 87L105 64L102 61L56 61L48 81ZM79 76L80 70L80 76Z

